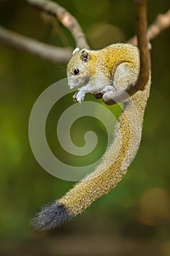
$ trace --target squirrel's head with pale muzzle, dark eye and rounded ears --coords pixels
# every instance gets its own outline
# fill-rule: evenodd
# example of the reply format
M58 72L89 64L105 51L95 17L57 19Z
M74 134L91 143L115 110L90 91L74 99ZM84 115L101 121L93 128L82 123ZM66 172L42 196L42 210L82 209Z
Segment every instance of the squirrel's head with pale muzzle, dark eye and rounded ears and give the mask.
M90 53L87 49L74 49L67 65L67 78L70 89L88 83Z

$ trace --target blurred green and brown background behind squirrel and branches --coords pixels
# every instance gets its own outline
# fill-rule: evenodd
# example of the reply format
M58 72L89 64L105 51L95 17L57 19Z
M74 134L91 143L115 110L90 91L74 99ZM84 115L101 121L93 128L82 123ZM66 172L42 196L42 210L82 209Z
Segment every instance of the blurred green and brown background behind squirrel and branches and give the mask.
M134 35L133 1L58 4L79 20L91 48L125 42ZM148 1L148 23L169 7L169 0ZM60 23L54 30L24 1L0 1L0 25L50 45L75 47L69 31ZM0 42L0 255L170 255L169 42L169 29L152 40L152 89L142 143L128 174L81 216L49 233L34 231L30 219L74 182L50 176L36 162L28 141L28 119L39 94L66 78L66 64L55 65ZM51 110L47 140L61 159L83 165L83 159L64 155L55 134L57 119L72 104L69 94ZM120 114L117 106L110 108L115 116ZM89 129L100 138L95 157L101 156L107 137L98 122L78 120L72 132L75 143L83 146L83 133ZM92 155L87 162L93 159Z

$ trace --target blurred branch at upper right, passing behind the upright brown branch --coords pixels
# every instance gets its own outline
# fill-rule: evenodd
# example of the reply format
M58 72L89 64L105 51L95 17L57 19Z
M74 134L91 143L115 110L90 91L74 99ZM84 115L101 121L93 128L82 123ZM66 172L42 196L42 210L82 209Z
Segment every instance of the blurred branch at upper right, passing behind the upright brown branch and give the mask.
M169 28L170 26L170 10L163 14L159 14L155 21L147 29L147 39L148 41L154 39L158 36L163 30ZM136 36L128 40L132 45L137 45Z

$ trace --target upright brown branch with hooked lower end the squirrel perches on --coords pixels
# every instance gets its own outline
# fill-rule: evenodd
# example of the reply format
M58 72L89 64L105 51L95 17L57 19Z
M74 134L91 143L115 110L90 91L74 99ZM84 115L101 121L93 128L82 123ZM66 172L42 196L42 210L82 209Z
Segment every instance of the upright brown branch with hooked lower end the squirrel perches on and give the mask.
M114 105L131 97L136 91L144 90L150 76L150 53L147 41L147 0L134 0L136 35L140 52L140 70L136 83L127 86L125 91L117 91L117 94L106 99L107 105ZM122 100L121 100L122 99Z

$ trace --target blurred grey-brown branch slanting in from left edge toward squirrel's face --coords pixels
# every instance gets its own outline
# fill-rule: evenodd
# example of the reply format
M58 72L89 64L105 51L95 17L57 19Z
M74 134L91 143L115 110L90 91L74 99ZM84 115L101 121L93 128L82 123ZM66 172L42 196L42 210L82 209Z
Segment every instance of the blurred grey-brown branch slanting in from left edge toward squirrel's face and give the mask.
M1 26L0 41L4 42L5 45L12 46L12 48L25 50L28 53L35 54L42 59L47 59L55 64L58 62L66 63L72 56L72 50L70 48L60 48L47 45L36 39L24 37L18 33L1 28Z

